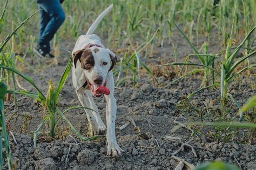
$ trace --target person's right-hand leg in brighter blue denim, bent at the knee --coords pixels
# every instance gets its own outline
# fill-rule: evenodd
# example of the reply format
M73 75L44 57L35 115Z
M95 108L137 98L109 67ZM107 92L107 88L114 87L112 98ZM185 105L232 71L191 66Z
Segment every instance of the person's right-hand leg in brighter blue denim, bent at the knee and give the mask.
M50 52L50 40L53 38L57 30L59 29L60 25L65 20L65 13L60 5L59 0L45 0L39 4L40 7L48 13L50 17L50 21L45 26L42 35L39 38L39 45L45 46L46 45L46 53Z

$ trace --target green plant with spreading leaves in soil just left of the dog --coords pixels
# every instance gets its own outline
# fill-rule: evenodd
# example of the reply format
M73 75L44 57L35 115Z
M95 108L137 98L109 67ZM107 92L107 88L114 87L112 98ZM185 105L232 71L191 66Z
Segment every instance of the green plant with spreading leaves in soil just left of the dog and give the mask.
M70 53L70 55L71 55L71 53ZM70 125L71 130L82 140L96 139L96 138L100 137L100 136L98 136L98 137L92 137L92 138L84 138L76 130L76 128L73 127L73 125L70 123L70 121L64 115L64 113L68 112L70 110L70 108L68 110L65 110L64 112L62 112L57 107L57 103L58 103L58 99L59 99L59 94L60 94L60 92L63 89L63 86L64 86L64 84L66 82L66 79L69 76L69 72L70 72L70 69L72 67L72 60L73 59L72 59L72 55L71 55L70 59L69 59L69 63L66 66L66 69L63 72L62 77L59 80L57 88L55 87L55 85L52 83L51 80L49 81L49 91L48 91L48 95L47 96L44 96L42 91L39 90L38 86L35 84L35 82L30 77L28 77L25 74L19 72L18 70L16 70L13 67L8 67L8 66L6 66L4 64L0 64L1 68L5 69L5 70L9 70L11 72L14 72L14 73L18 74L19 76L24 78L26 81L28 81L37 90L37 93L33 93L33 92L25 91L25 90L22 90L22 91L9 90L8 93L25 94L26 96L29 96L29 97L34 98L34 99L37 99L49 111L49 115L45 115L44 114L44 120L37 127L37 130L34 133L34 144L35 144L35 146L36 146L36 140L37 140L39 132L41 131L41 128L48 121L49 121L49 127L50 127L49 135L51 137L53 137L53 138L56 137L56 127L58 125L58 122L59 122L60 118L64 119ZM85 108L85 109L91 110L91 108L88 108L88 107L85 107L85 106L84 107L71 107L71 108Z

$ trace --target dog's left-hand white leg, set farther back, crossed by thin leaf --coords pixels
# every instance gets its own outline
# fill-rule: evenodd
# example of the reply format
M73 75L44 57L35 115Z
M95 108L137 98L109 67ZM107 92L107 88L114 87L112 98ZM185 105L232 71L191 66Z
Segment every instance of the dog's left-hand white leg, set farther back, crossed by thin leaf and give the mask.
M86 90L85 94L79 94L77 92L77 97L80 101L80 103L82 104L82 106L84 107L90 107L92 110L95 110L98 112L98 108L94 107L91 102L90 102L90 94L89 92L87 92L88 90ZM106 131L106 126L104 125L104 123L102 122L102 120L100 119L100 116L98 115L98 113L85 109L85 113L86 113L86 117L87 120L89 121L89 128L90 128L90 133L91 136L93 135L98 135L98 134L102 134ZM99 121L100 119L100 121Z

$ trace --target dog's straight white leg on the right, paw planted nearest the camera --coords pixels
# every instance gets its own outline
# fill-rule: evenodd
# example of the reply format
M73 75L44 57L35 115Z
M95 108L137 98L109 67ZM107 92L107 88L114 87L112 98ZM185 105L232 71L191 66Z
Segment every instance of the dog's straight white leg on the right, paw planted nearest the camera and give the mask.
M109 78L107 82L108 88L110 89L110 95L106 96L106 123L107 123L107 155L113 157L122 156L123 150L118 146L116 139L116 114L117 114L117 100L114 98L114 80L113 77Z

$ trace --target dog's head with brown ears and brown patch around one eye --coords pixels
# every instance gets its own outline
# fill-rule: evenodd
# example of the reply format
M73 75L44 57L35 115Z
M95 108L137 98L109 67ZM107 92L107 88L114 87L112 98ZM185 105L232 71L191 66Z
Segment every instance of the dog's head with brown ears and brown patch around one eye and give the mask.
M96 90L105 83L107 73L116 65L117 57L109 49L93 46L73 52L75 67L78 60L83 73L92 84L93 89Z

